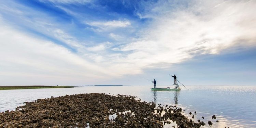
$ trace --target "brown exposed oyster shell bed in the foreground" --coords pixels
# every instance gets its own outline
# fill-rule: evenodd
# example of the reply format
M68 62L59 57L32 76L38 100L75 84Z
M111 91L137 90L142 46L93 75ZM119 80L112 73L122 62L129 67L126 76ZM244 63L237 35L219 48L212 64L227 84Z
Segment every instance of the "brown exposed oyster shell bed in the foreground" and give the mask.
M165 114L161 114L163 111ZM116 118L110 119L110 115L115 113ZM199 128L205 125L181 113L181 108L167 105L156 108L155 103L141 102L134 96L78 94L38 99L18 106L16 111L2 112L0 127L163 127L165 123L171 123L168 120L176 122L178 127Z

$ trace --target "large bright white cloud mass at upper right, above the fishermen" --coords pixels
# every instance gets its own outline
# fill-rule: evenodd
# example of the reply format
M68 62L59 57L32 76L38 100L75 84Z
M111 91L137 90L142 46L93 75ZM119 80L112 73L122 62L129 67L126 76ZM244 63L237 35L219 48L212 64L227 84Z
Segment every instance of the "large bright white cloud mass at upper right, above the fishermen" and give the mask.
M120 67L119 73L142 73L144 68L161 68L198 54L218 54L238 43L255 46L255 6L255 1L201 1L172 11L154 6L143 15L153 22L141 31L140 39L113 48L128 53L113 67Z

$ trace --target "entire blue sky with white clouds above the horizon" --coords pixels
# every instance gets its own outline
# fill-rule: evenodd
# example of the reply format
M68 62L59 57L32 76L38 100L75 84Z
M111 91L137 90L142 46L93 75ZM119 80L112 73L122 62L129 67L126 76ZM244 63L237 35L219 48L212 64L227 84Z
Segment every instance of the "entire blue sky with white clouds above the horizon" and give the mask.
M2 0L0 86L256 85L255 0ZM148 81L148 80L150 81Z

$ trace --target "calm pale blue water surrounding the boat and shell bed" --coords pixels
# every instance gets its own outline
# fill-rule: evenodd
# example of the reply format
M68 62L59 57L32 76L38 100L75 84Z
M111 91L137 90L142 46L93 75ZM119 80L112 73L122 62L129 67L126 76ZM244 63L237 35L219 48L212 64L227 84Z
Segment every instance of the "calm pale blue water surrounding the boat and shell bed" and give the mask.
M151 86L77 87L0 90L0 112L15 110L25 101L82 93L124 94L143 101L176 105L194 120L213 122L212 127L256 127L256 86L187 86L181 91L151 91ZM161 87L161 86L158 86ZM163 87L164 88L164 87ZM197 115L194 112L197 112ZM216 115L216 119L211 116ZM202 119L201 117L204 117ZM219 123L215 122L216 120Z

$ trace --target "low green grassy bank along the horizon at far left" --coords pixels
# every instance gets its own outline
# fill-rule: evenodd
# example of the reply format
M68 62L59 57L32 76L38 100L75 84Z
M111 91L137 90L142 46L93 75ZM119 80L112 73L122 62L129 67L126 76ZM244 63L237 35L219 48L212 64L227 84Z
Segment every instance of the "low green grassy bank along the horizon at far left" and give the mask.
M38 89L38 88L72 88L74 86L0 86L0 90L9 89Z

